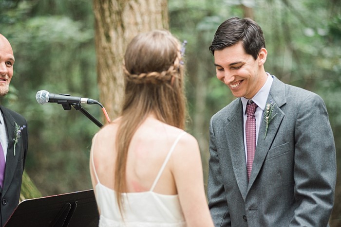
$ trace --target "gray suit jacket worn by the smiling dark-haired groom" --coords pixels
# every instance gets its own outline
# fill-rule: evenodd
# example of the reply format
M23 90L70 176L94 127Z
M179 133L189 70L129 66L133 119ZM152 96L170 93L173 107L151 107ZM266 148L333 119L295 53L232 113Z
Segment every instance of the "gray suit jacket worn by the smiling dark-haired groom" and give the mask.
M336 154L320 96L274 77L276 105L262 119L249 182L238 98L210 121L208 206L215 226L325 227L334 204Z

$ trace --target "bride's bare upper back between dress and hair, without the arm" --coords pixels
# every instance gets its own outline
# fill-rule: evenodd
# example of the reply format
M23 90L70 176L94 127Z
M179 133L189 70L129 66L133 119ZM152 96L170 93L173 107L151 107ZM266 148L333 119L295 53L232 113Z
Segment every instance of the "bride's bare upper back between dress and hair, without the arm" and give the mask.
M114 169L116 160L116 132L119 120L105 126L97 135L95 141L95 168L100 182L114 189ZM152 187L171 145L181 129L148 117L137 129L128 150L126 182L127 192L146 192ZM185 141L193 140L190 135L184 135L177 144L174 153L179 153ZM193 149L193 148L192 148ZM194 147L195 149L195 147ZM172 155L172 156L176 156ZM171 173L173 157L163 171L154 192L161 194L177 194L175 181ZM97 164L98 163L98 164Z

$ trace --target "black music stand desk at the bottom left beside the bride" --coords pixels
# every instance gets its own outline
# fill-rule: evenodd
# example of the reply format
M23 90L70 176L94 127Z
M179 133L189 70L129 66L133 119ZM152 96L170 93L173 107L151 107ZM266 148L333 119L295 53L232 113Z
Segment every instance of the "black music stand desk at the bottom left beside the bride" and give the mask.
M27 199L19 203L5 227L97 227L94 190Z

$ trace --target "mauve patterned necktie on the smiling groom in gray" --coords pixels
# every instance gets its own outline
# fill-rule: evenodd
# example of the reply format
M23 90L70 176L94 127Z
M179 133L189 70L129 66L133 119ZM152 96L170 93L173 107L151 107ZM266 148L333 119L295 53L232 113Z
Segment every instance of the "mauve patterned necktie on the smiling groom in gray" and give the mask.
M245 133L246 133L246 151L247 151L247 180L250 179L251 170L252 170L252 162L255 157L256 152L256 118L255 111L257 105L249 101L246 105L246 124L245 124Z

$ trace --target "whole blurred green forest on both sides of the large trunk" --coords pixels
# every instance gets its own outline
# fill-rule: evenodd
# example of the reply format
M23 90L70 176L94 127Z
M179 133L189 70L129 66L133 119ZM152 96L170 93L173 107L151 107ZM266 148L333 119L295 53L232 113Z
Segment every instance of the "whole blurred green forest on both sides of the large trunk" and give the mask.
M140 1L152 6L162 0L129 2ZM96 69L96 59L100 56L96 56L95 50L94 2L106 1L0 0L0 33L10 40L16 58L10 93L0 101L28 121L29 153L25 171L37 187L38 196L92 188L89 154L92 137L99 127L74 108L39 105L35 96L44 89L101 102L104 95L100 95L103 84L98 83ZM251 17L264 31L268 51L265 70L285 83L316 92L325 101L338 163L330 224L341 226L341 1L166 0L163 7L169 19L169 27L165 27L180 40L188 41L187 131L199 141L205 184L209 119L234 99L215 77L208 46L225 19ZM112 102L121 98L106 97ZM105 123L98 105L83 107ZM109 114L113 117L116 113Z

